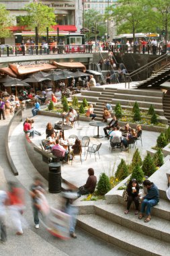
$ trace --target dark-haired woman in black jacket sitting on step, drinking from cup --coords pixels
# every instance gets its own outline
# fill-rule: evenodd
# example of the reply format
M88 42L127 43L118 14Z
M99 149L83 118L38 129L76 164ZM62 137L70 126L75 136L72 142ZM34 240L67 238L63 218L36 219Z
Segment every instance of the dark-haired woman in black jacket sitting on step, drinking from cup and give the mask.
M134 214L137 215L138 207L139 207L139 201L138 201L139 185L138 185L138 182L136 181L136 179L130 180L126 191L128 192L128 201L127 201L127 210L124 212L124 214L128 214L130 205L131 205L132 201L134 201L135 208L136 208Z

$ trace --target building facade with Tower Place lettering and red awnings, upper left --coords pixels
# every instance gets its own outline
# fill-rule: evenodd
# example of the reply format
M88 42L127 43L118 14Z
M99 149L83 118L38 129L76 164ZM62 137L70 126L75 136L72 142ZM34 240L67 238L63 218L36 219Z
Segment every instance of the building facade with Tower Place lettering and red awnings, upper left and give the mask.
M14 18L13 32L19 32L20 28L17 26L17 18L27 15L23 8L26 4L32 2L38 2L38 0L0 0L0 4L5 5L6 9L10 11L10 14ZM82 28L82 0L41 0L40 2L48 7L54 8L56 25L62 26L62 30L68 31L70 29L70 32L76 32ZM73 26L75 26L75 29L73 29ZM14 44L14 39L5 38L5 44Z

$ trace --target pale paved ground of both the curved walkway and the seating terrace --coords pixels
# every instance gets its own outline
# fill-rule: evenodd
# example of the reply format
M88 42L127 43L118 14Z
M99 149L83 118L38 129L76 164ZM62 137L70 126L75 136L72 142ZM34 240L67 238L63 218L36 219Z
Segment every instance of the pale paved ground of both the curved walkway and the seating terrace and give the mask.
M31 116L31 110L26 110L24 113L25 117ZM0 122L1 132L0 132L0 147L1 147L1 164L0 164L0 178L1 187L5 187L6 181L19 181L21 185L26 189L26 205L27 210L24 214L26 221L24 222L24 236L16 237L15 230L10 223L10 218L8 218L8 242L7 245L1 245L0 255L131 255L122 249L118 249L99 238L95 238L91 234L84 232L83 230L77 228L77 240L71 239L70 241L60 241L54 238L44 227L40 226L40 230L35 230L33 220L32 220L32 209L30 205L30 197L28 195L28 189L32 183L32 179L38 172L32 166L32 162L27 156L26 149L24 146L24 133L22 123L13 130L11 138L9 138L9 148L11 151L11 156L13 157L13 162L19 171L19 176L14 177L11 173L10 166L7 164L5 152L4 152L4 137L5 130L9 123L9 117L5 121ZM35 136L32 141L39 146L41 139L45 138L45 128L48 122L56 123L57 120L54 117L44 117L36 116L35 118L35 128L40 131L42 136ZM101 135L103 135L103 129L100 128ZM79 127L76 125L70 131L65 132L65 137L69 137L71 134L76 134L79 139L84 135L91 137L91 145L93 143L102 143L101 150L99 151L101 159L99 160L97 156L97 162L95 162L94 156L87 158L85 161L85 156L83 155L83 163L79 162L79 157L75 158L73 165L71 163L64 164L62 167L62 177L67 179L67 181L73 183L74 185L82 185L87 179L87 169L93 167L97 178L101 172L105 172L109 175L112 174L113 167L116 170L116 166L119 164L121 158L124 158L127 162L130 162L134 148L130 152L120 152L116 150L110 152L108 139L93 139L93 135L96 135L97 127L89 126L87 122L80 122ZM143 146L141 146L140 141L138 141L137 148L142 154L142 158L146 154L146 149L151 148L155 145L156 139L159 133L151 133L148 131L143 131L142 141ZM48 193L48 183L43 179L44 185L46 187L46 196L50 205L58 207L60 203L60 197L56 194ZM20 241L19 241L20 240ZM17 243L18 241L18 243Z

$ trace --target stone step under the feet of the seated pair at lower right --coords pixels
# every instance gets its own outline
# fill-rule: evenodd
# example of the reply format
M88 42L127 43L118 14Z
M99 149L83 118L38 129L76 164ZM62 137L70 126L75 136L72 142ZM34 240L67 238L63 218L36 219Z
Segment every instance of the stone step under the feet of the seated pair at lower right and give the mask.
M124 214L126 207L124 205L95 205L95 214L107 218L112 222L116 222L131 230L138 230L142 234L157 238L161 241L170 243L170 222L153 216L149 225L142 220L138 220L138 216L134 215L134 210L130 209L129 214ZM160 216L159 216L160 217Z

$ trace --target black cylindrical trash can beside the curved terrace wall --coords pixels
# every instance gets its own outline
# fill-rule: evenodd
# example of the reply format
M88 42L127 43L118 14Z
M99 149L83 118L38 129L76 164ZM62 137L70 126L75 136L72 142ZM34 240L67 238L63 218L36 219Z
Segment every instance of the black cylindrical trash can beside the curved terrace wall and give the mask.
M59 162L48 164L48 191L50 193L60 193L61 191L61 169Z

